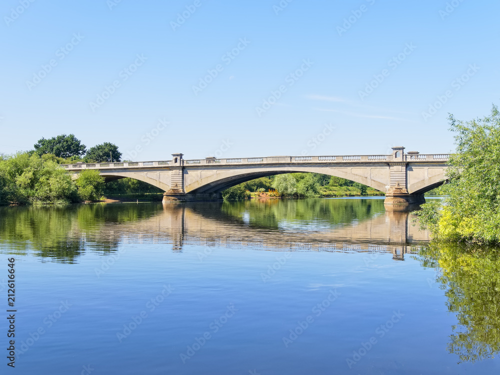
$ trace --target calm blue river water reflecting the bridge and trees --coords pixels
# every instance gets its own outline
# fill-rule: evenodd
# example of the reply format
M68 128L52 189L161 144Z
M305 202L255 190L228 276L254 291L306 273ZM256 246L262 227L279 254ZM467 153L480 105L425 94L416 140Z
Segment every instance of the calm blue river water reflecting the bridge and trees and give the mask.
M1 373L498 374L494 324L458 317L476 306L413 217L378 198L0 208Z

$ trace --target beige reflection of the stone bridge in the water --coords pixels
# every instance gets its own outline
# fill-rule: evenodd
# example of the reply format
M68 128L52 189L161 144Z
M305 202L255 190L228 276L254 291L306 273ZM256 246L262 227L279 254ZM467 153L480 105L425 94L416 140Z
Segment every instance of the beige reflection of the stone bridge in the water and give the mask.
M371 218L316 228L301 229L300 222L280 222L278 227L269 228L224 214L220 203L211 204L212 210L198 210L197 205L163 204L160 213L120 225L117 231L123 231L125 241L165 241L172 244L174 251L195 245L257 250L391 252L393 258L399 260L404 259L404 254L417 251L419 243L428 240L428 233L413 224L413 215L408 212L379 212ZM287 225L293 227L287 228Z

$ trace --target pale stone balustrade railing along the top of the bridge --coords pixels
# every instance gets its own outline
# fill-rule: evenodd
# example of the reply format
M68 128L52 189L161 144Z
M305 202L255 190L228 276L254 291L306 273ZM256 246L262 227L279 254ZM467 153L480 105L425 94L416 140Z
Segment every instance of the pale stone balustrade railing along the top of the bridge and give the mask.
M380 163L385 161L446 161L449 154L404 154L402 160L394 159L392 155L340 155L340 156L267 156L239 157L229 159L181 159L180 164L173 160L166 161L123 161L109 163L74 163L61 164L68 170L80 169L115 169L144 168L161 166L198 166L198 165L231 165L231 164L282 164L282 163Z

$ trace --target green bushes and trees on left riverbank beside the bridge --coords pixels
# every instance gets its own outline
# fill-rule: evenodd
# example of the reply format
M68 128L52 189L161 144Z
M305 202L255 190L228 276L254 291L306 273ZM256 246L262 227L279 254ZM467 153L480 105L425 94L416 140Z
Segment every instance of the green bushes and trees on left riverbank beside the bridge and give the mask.
M111 160L121 161L116 145L104 142L86 150L73 134L41 138L30 151L0 154L0 204L109 201L106 196L117 197L118 201L161 200L163 191L142 181L122 178L104 183L97 170L83 170L73 180L58 166Z

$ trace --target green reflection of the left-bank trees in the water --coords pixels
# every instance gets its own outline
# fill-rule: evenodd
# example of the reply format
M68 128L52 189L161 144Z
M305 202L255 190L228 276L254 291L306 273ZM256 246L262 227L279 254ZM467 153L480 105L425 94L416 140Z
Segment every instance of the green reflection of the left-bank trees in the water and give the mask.
M0 208L0 243L9 253L28 250L52 261L74 263L85 248L110 252L121 233L102 232L104 225L149 217L158 210L151 204L78 204Z

